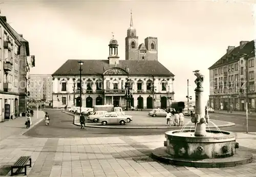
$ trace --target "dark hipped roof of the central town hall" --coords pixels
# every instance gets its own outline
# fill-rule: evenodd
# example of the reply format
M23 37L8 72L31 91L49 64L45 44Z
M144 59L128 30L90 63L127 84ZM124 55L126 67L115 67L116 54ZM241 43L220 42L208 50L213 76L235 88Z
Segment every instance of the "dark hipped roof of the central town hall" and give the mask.
M67 60L55 71L52 76L58 75L79 75L79 60ZM121 68L126 71L129 68L130 75L166 75L174 76L159 61L138 61L138 60L119 60L119 64L110 65L109 60L82 60L82 75L102 75L110 68Z

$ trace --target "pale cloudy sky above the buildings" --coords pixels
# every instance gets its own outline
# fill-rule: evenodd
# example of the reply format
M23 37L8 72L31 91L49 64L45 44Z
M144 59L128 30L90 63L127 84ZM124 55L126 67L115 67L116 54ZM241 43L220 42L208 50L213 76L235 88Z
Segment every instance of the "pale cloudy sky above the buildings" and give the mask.
M1 15L29 41L36 67L53 74L68 59L107 59L112 32L125 59L125 36L133 24L142 43L158 38L158 61L175 75L175 100L195 99L194 70L205 76L228 46L256 38L255 1L4 1Z

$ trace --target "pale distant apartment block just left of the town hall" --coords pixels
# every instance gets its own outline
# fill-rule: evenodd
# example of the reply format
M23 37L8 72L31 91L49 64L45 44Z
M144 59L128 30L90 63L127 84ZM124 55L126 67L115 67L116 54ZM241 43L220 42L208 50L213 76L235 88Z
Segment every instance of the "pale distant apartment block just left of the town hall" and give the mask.
M34 101L52 101L52 76L31 74L29 84L29 99Z

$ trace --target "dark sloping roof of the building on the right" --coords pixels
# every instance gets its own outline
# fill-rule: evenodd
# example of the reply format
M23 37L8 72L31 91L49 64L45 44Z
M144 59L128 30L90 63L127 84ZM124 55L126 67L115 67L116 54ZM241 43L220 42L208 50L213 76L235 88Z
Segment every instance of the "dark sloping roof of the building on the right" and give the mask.
M229 63L232 61L239 60L241 55L246 54L247 56L255 56L254 40L249 41L246 45L240 49L240 46L234 48L229 54L223 55L216 63L214 63L208 70L217 68L219 65ZM228 60L227 60L228 58Z

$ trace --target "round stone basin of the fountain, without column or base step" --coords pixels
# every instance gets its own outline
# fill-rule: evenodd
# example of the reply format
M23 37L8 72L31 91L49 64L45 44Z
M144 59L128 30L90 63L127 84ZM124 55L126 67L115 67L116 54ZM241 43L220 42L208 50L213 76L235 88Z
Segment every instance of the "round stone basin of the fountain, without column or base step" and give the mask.
M166 152L173 158L191 160L227 158L238 148L236 134L229 131L206 130L207 136L195 137L195 130L165 132Z

